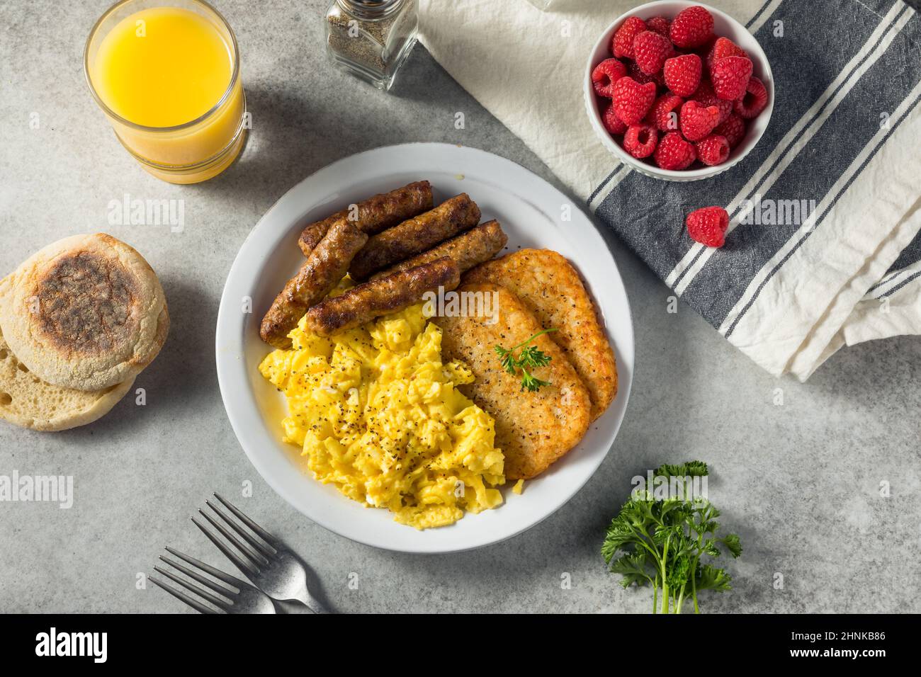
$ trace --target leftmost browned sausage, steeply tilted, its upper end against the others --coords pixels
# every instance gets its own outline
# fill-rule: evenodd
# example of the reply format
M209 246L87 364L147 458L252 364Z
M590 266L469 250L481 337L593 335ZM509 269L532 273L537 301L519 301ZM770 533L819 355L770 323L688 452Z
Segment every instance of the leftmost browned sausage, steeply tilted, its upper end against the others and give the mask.
M367 233L350 221L343 219L333 223L316 249L310 252L307 263L287 281L285 288L275 297L272 308L265 313L259 329L262 340L276 348L290 348L288 333L297 326L310 306L339 283L352 257L366 242Z

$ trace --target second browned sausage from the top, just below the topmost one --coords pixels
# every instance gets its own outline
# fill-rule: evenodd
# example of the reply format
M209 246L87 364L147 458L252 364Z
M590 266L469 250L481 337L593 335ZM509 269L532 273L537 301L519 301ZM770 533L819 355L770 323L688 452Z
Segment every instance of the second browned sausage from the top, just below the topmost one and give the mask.
M368 239L352 260L348 272L353 280L367 280L372 274L431 249L479 222L480 208L470 196L467 193L455 195L430 212Z

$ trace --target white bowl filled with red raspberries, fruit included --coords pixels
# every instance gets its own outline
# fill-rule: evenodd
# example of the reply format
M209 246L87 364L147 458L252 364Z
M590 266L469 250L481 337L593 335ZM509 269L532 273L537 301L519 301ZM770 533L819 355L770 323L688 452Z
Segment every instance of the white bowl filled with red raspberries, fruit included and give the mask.
M726 171L761 139L774 107L771 66L738 21L691 2L617 18L589 57L585 99L602 143L665 181Z

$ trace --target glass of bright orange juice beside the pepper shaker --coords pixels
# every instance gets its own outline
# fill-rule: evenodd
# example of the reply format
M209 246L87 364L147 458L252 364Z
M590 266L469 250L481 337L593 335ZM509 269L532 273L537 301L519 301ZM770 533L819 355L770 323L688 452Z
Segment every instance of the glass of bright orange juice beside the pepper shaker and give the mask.
M158 179L206 181L239 156L237 38L202 0L121 0L90 32L84 70L122 146Z

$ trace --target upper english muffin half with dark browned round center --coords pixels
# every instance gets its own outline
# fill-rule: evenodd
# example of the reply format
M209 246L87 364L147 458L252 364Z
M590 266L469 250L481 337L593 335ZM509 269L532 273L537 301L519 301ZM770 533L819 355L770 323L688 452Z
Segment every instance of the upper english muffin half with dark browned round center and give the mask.
M144 257L97 233L58 240L0 281L0 328L41 380L103 391L157 356L169 313Z

